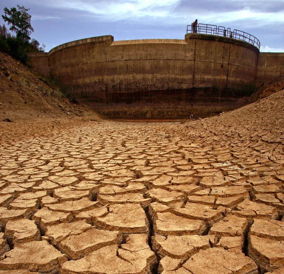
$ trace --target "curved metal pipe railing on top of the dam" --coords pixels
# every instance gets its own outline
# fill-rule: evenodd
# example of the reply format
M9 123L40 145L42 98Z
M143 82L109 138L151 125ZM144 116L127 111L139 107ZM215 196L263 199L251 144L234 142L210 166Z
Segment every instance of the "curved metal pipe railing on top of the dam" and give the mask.
M193 32L193 27L191 25L187 25L186 33L192 33L192 32ZM260 41L253 35L247 32L243 32L241 30L231 31L231 28L226 29L225 27L222 26L198 24L195 32L201 34L224 36L232 39L245 41L260 49Z

